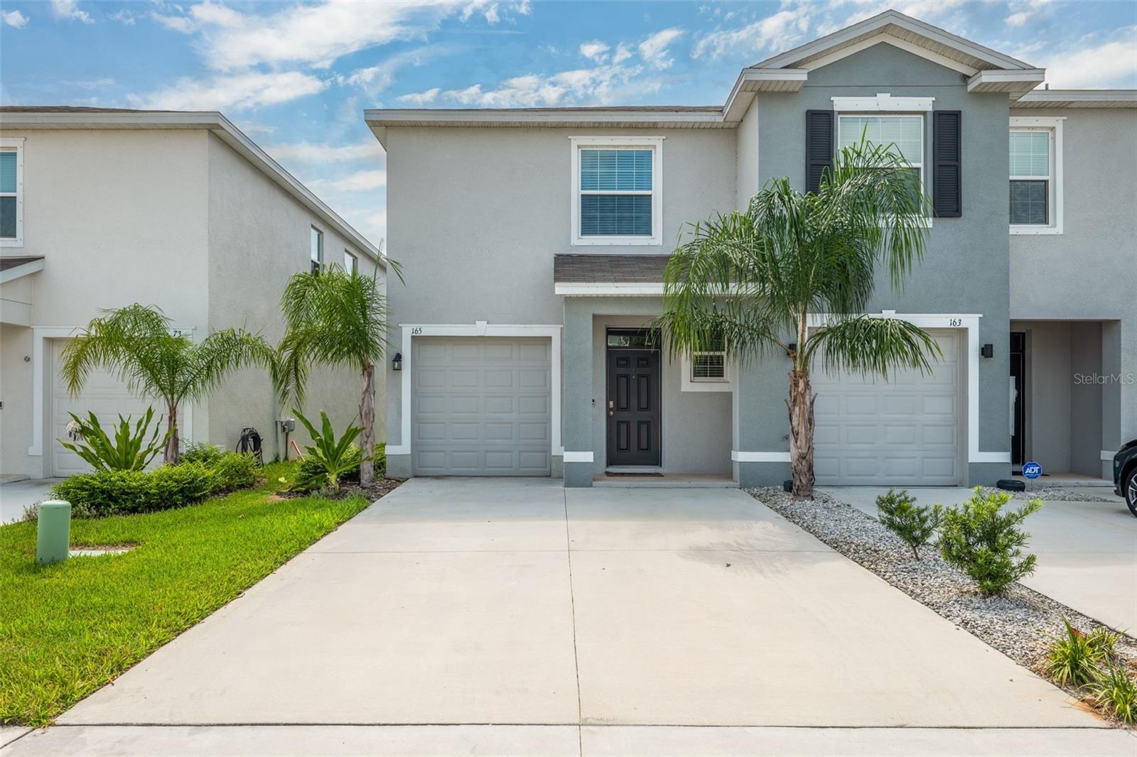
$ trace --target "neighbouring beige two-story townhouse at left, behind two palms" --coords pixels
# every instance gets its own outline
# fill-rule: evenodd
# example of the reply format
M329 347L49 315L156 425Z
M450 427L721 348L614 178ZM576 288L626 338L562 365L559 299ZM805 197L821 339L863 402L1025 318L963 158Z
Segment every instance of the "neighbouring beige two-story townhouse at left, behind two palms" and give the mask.
M66 391L60 351L100 309L156 305L193 339L232 326L275 343L293 273L335 263L385 277L374 244L218 113L0 108L0 211L6 476L84 469L56 441L68 413L163 414L107 372L78 397ZM362 388L354 372L316 372L307 406L339 429ZM381 381L380 407L382 391ZM272 459L283 449L276 421L291 415L268 372L247 369L182 408L182 436L233 449L252 426Z

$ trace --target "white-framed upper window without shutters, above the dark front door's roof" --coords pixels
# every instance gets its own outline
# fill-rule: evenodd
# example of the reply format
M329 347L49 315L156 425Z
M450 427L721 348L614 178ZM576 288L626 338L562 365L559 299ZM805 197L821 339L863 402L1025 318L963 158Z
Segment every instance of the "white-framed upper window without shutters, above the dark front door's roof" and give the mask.
M572 139L572 243L659 244L662 138Z

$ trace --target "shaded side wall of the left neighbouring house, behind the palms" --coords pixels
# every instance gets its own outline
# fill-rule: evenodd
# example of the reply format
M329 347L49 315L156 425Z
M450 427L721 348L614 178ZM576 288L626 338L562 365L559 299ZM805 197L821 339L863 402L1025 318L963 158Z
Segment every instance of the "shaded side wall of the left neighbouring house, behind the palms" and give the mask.
M289 276L307 271L309 230L324 233L325 264L343 264L345 249L359 261L359 271L372 274L374 261L355 244L318 221L264 173L216 136L209 138L209 328L243 327L259 331L272 343L284 333L280 296ZM383 381L376 372L376 438L384 434ZM319 410L341 431L358 415L363 380L355 369L316 369L301 411L318 424ZM241 429L254 426L265 440L265 457L277 454L275 419L292 415L291 405L277 408L268 373L260 369L234 374L209 400L208 436L232 449ZM308 440L302 430L293 436ZM283 444L283 440L280 440Z

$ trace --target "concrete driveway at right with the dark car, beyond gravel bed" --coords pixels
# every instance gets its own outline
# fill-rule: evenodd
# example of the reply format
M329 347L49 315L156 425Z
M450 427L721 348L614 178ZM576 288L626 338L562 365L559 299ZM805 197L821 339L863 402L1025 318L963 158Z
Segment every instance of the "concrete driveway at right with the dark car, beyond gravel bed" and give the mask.
M822 489L873 517L877 496L888 491L873 486ZM958 505L971 496L971 490L963 488L908 491L929 505ZM1022 583L1114 629L1137 632L1137 518L1112 489L1077 491L1112 501L1046 501L1026 521L1038 567ZM1011 500L1012 507L1020 505Z

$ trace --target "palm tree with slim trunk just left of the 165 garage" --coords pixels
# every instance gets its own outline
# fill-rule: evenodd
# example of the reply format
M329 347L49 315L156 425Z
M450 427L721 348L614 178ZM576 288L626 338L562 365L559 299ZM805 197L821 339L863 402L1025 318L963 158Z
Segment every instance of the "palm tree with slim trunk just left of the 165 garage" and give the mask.
M281 310L285 332L277 348L276 386L282 401L304 402L314 365L354 367L363 377L359 483L367 486L375 481L375 364L387 351L387 298L375 276L332 265L293 274L281 296Z

